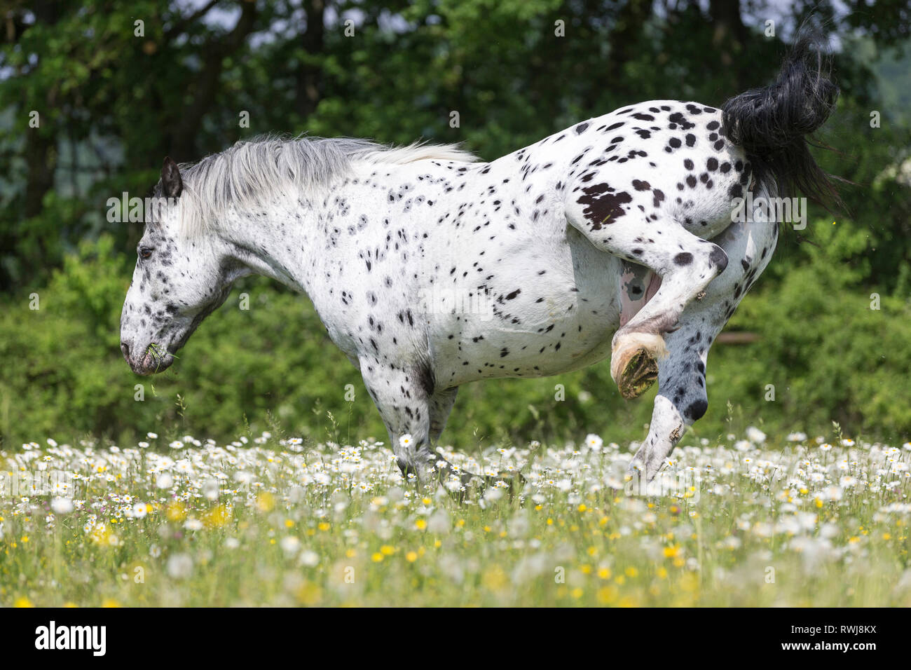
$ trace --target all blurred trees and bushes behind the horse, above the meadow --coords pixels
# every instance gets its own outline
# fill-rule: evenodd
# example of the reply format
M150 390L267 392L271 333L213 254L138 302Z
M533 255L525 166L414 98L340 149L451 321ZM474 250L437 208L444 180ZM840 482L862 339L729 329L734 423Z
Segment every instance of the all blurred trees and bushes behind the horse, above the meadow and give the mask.
M908 438L907 2L7 0L0 446L87 435L127 443L147 431L384 435L309 301L262 279L241 282L165 375L129 371L118 320L141 231L107 222L106 203L148 194L165 155L198 160L278 131L460 141L492 160L630 102L717 106L764 85L812 9L842 87L819 137L838 151L816 154L854 182L843 188L850 212L811 209L807 230L785 235L727 329L751 342L711 352L709 412L694 435L747 424L824 433L835 420L851 435ZM40 309L30 309L36 297ZM639 439L653 395L623 401L608 362L469 385L444 441L471 448L589 431Z

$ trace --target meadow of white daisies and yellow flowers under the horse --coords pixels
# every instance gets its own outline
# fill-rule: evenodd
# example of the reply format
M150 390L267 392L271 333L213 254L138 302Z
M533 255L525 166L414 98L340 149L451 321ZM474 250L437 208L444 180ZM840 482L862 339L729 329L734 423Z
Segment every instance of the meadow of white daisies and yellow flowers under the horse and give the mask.
M589 435L443 448L491 484L423 488L376 440L33 442L0 605L911 605L911 443L684 441L648 486Z

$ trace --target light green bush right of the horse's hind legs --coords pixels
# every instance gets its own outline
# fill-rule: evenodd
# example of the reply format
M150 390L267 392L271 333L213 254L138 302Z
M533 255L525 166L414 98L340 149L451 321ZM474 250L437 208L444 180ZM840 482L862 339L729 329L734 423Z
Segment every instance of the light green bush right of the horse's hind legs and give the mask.
M751 294L729 325L761 335L748 360L737 360L747 356L731 347L713 350L715 378L720 368L726 374L718 388L710 385L710 401L727 395L748 414L784 426L835 420L853 432L907 438L911 303L869 282L868 232L831 221L812 230L819 246L804 250L809 262ZM731 374L733 366L739 374ZM775 387L774 402L764 399L767 384Z

